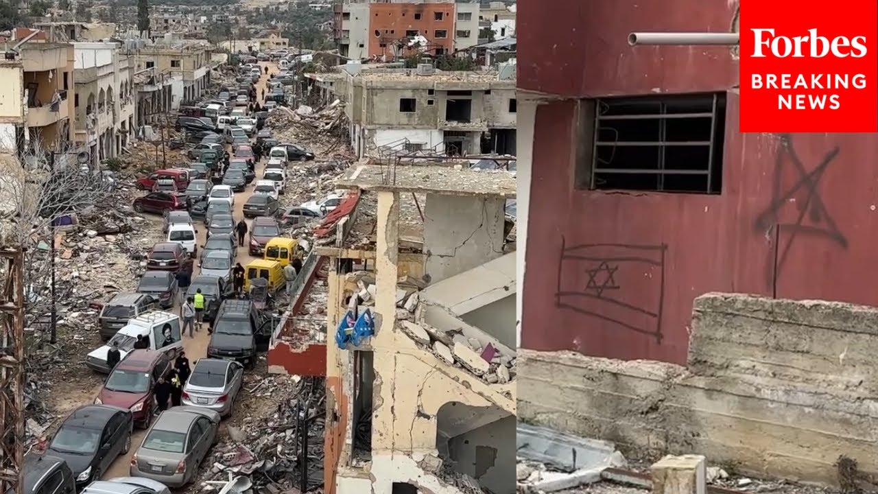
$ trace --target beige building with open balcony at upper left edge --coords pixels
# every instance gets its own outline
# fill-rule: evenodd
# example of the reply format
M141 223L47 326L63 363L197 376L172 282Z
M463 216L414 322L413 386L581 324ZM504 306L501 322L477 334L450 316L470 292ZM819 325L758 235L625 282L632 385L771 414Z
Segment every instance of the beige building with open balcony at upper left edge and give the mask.
M67 152L74 142L74 49L32 32L0 61L0 147L18 153ZM34 40L42 37L43 40Z

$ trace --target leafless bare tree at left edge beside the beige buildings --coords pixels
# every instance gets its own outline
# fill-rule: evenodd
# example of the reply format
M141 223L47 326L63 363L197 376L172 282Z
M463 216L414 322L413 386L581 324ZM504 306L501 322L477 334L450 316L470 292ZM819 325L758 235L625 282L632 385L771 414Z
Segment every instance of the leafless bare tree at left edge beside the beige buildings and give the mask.
M75 155L53 157L35 149L19 156L0 150L0 243L25 250L25 312L39 317L52 303L47 245L56 233L54 222L100 207L111 191L102 174L82 167ZM66 298L57 291L55 296Z

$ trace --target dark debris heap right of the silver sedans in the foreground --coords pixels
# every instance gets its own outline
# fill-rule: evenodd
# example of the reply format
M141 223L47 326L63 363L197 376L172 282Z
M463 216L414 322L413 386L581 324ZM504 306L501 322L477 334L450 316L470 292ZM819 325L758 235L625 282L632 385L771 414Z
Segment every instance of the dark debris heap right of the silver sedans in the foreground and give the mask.
M226 440L220 440L212 449L212 457L205 461L212 468L206 469L201 478L202 490L219 490L230 473L248 476L254 491L263 493L320 490L326 413L322 378L272 376L255 384L245 383L242 392L251 399L272 396L272 401L279 403L268 417L248 416L240 426L227 427Z

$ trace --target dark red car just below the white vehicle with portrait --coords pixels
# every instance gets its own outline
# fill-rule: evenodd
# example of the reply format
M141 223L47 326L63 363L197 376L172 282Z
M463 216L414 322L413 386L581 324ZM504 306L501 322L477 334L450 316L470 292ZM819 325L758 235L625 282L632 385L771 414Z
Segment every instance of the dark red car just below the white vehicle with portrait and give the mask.
M171 367L166 352L132 350L112 369L95 404L131 410L134 424L148 429L155 411L155 382L167 376Z

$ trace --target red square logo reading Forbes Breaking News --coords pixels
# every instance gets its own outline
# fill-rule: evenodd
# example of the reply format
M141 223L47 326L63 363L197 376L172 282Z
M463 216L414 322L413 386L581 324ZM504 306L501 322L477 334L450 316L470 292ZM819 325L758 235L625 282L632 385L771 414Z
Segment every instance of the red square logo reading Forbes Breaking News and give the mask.
M878 132L878 2L740 12L741 132Z

